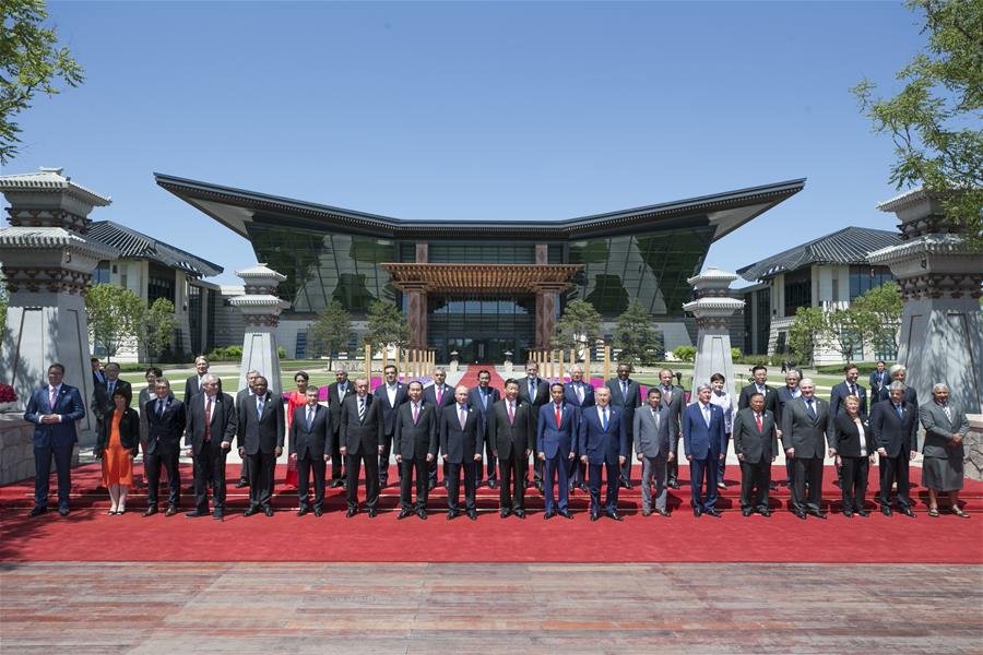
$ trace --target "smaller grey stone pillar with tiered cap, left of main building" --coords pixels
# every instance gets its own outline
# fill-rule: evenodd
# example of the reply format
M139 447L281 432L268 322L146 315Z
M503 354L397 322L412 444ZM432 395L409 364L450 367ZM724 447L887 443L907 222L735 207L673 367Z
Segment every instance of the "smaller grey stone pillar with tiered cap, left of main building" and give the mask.
M269 382L274 395L283 392L280 383L280 355L276 348L276 325L280 312L289 306L276 296L276 287L286 279L265 264L236 271L242 278L246 293L230 300L233 307L242 311L246 334L242 337L242 361L239 368L239 385L246 388L246 372L256 369Z

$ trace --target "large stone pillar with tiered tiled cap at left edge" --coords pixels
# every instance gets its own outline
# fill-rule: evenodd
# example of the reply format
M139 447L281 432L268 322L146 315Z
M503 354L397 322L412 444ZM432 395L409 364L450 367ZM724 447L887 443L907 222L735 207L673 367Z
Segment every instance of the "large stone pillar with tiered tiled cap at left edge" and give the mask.
M82 444L95 442L95 417L87 412L93 380L85 293L92 271L119 251L85 238L93 207L111 201L61 175L60 168L0 176L10 207L10 227L0 229L10 301L0 379L10 382L23 408L32 390L47 383L48 366L64 365L64 381L79 388L86 416Z

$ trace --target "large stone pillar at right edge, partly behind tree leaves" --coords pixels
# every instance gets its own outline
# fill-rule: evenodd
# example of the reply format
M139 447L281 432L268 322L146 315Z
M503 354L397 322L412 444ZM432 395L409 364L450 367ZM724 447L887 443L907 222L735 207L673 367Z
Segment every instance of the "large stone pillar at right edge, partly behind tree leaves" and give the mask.
M983 407L983 253L971 252L938 200L914 190L881 203L901 222L903 242L867 255L888 265L901 285L904 309L898 361L908 383L928 402L944 382L968 414Z

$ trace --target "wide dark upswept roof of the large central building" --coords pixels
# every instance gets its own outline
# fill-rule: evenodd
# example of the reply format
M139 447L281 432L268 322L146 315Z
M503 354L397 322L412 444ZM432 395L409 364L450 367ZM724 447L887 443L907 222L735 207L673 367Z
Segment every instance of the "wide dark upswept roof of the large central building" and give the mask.
M701 195L630 210L565 221L417 221L393 218L331 205L293 200L154 174L156 182L185 202L249 238L248 225L265 222L284 228L304 227L382 238L575 239L637 231L713 225L713 239L737 229L755 216L798 193L805 179Z

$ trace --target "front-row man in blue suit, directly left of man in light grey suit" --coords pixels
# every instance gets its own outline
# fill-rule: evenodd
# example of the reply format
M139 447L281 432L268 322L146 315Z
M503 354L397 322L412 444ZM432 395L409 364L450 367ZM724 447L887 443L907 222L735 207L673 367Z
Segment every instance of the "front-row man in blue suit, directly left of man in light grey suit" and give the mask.
M632 418L633 420L633 418ZM621 466L628 460L628 430L625 409L611 405L611 389L602 386L596 393L596 405L580 413L577 429L580 460L589 471L591 486L591 521L601 515L601 478L607 467L607 492L604 514L620 521L618 514L618 478Z

